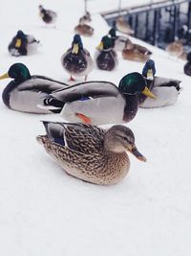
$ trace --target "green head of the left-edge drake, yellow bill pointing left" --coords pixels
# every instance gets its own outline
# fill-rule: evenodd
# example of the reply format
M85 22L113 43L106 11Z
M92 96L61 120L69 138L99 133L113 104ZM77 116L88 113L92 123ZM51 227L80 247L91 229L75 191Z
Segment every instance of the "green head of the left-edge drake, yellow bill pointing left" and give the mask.
M31 79L31 74L29 69L23 63L14 63L11 65L8 73L0 76L0 80L9 78L14 79L16 82L22 82Z

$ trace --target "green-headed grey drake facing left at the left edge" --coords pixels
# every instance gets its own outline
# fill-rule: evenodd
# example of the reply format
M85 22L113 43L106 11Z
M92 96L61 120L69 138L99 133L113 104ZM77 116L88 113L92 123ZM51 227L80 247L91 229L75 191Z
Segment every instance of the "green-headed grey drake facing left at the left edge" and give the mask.
M3 102L9 108L31 113L57 113L56 107L42 109L44 99L54 90L66 87L67 84L54 81L44 76L31 76L29 69L23 63L11 65L8 73L0 76L0 80L13 79L3 91Z

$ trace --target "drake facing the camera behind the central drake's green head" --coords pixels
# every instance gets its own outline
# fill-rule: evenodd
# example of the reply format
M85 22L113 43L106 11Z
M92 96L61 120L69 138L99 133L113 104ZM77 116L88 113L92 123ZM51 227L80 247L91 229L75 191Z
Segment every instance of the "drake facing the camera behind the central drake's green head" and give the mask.
M148 59L145 63L142 75L146 78L147 86L156 96L156 101L150 101L144 95L138 95L138 104L141 107L161 107L173 105L180 94L180 81L162 77L155 77L155 62Z

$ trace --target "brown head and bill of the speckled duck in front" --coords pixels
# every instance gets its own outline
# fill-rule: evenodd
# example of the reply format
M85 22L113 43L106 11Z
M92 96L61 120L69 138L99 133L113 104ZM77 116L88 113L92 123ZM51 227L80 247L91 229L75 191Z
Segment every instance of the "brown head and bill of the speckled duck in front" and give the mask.
M146 161L146 158L138 151L135 145L135 136L130 128L121 125L109 128L104 137L104 147L108 151L130 151L139 160Z

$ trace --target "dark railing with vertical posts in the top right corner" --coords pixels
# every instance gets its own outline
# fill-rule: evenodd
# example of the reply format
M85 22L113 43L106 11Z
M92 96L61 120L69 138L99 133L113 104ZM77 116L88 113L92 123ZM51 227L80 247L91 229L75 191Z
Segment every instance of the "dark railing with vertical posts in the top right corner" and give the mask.
M135 37L160 48L179 38L187 51L191 50L191 0L153 3L102 15L110 26L122 15L135 31Z

